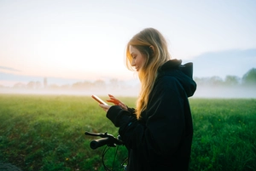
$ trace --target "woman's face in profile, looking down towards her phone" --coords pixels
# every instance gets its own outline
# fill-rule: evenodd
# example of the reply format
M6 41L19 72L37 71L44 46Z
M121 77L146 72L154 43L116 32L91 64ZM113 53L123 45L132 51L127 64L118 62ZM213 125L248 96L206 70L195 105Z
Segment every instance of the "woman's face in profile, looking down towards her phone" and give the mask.
M131 66L134 66L136 71L139 71L145 64L146 58L137 48L131 45L129 46L129 50L132 57Z

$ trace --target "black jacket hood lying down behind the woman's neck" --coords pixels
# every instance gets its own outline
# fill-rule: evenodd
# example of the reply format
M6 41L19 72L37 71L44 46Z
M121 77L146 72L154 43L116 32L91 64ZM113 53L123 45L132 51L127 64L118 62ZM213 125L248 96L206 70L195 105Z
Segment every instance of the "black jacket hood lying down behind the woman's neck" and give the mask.
M160 66L158 73L159 77L166 75L176 77L188 97L195 93L196 83L193 80L192 62L182 65L182 60L168 60L163 66Z

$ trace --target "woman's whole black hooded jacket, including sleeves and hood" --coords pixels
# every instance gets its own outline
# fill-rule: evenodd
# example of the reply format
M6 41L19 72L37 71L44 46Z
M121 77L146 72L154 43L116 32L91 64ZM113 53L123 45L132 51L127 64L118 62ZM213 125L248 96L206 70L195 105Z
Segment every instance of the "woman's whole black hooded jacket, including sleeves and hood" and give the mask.
M109 108L107 117L129 150L127 170L188 170L193 136L188 97L196 88L192 70L192 63L181 65L181 60L161 66L139 120L133 109Z

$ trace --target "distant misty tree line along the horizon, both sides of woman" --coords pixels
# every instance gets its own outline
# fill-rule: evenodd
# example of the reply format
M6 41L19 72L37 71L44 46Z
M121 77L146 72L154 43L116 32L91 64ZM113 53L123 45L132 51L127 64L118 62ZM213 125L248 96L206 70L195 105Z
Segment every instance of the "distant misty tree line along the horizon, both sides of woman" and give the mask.
M256 69L252 68L247 71L243 77L236 76L226 76L224 79L221 77L195 77L195 82L200 86L225 86L225 87L236 87L236 86L256 86ZM4 86L0 85L0 88L4 88ZM73 84L49 84L47 83L47 78L44 77L44 82L41 83L39 81L29 82L29 83L15 83L12 88L28 88L28 89L97 89L97 88L113 88L113 89L125 89L131 88L131 86L127 85L124 81L120 81L116 78L113 78L107 82L103 80L96 80L93 82L84 81L77 82Z

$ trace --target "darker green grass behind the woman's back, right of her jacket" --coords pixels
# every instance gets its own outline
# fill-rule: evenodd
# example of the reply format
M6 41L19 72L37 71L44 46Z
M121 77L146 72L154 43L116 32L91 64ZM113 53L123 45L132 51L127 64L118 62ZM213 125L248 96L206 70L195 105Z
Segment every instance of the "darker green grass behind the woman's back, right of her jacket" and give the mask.
M190 100L192 170L256 169L256 100Z

